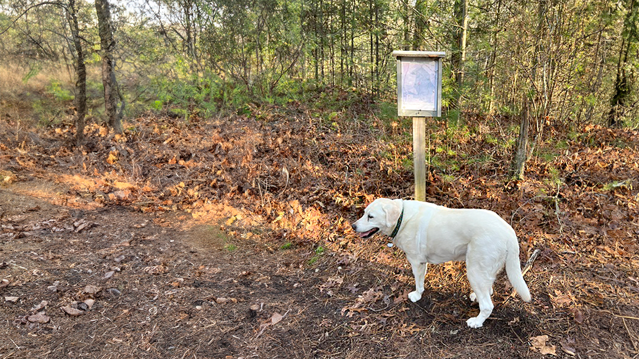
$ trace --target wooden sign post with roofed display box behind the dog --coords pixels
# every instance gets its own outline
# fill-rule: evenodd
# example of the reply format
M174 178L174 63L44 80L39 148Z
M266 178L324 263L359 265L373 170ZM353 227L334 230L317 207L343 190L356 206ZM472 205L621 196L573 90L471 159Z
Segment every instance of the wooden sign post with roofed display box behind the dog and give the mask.
M415 199L426 201L426 118L442 116L445 52L393 51L397 57L397 115L413 118Z

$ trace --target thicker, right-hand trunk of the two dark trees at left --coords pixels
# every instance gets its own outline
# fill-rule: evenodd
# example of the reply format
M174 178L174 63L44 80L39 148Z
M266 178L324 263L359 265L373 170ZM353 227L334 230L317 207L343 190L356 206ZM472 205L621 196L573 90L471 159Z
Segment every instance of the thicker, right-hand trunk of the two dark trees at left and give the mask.
M124 130L122 127L122 114L125 103L121 101L118 112L119 91L115 73L116 61L113 57L115 40L111 27L111 11L109 10L108 0L95 0L95 10L98 15L100 50L102 52L102 84L104 84L105 115L109 121L109 126L111 126L117 134L121 134ZM119 96L119 98L122 100L121 96Z

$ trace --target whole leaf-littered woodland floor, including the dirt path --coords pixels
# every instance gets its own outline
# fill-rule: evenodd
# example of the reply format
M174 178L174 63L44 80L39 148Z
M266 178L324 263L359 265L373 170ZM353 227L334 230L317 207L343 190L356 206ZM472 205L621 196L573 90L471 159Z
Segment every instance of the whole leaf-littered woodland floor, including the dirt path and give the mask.
M410 122L250 112L91 125L82 150L70 126L0 119L0 357L639 355L637 132L550 123L512 181L516 124L429 124L427 200L496 211L522 263L541 250L532 303L501 277L470 329L462 263L429 266L411 303L403 254L350 229L412 195Z

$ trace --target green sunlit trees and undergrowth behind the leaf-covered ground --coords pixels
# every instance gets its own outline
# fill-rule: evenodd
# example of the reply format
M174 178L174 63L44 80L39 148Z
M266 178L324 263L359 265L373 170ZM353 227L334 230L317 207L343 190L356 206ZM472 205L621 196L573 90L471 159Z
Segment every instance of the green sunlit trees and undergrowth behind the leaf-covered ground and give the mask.
M380 104L381 116L392 117L392 51L403 49L449 54L442 98L445 116L454 122L460 112L520 114L530 102L538 132L548 119L575 129L587 123L639 125L635 0L108 5L105 0L0 2L4 114L44 124L82 117L85 107L77 96L86 86L89 121L108 120L118 132L122 129L113 122L118 114L111 114L117 112L115 102L123 111L120 118L169 109L188 119L249 112L251 103L327 103L327 88L369 95ZM101 8L110 11L96 12ZM103 62L114 66L117 82L107 99L114 102L107 118ZM77 114L69 109L74 99Z

